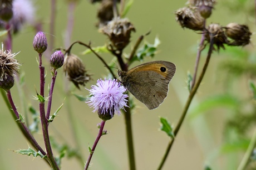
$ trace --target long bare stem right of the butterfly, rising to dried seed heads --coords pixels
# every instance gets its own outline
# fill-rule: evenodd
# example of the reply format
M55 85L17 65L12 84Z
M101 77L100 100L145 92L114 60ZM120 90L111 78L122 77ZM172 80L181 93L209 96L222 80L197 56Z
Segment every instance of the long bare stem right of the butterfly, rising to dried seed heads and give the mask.
M178 134L178 132L179 132L179 130L180 130L180 127L181 127L181 125L182 125L182 123L183 123L183 121L184 121L184 119L185 119L186 113L188 112L188 109L189 109L189 106L190 106L190 104L191 104L191 101L193 100L193 97L195 96L195 93L196 93L196 91L198 90L198 87L199 87L201 81L202 81L203 78L204 78L206 69L207 69L208 64L209 64L209 61L210 61L211 54L213 53L213 43L214 43L213 37L210 37L210 46L209 46L209 50L208 50L208 54L207 54L207 58L206 58L206 60L205 60L205 64L204 64L203 70L201 71L201 74L200 74L199 79L198 79L198 81L196 82L195 86L194 86L193 89L190 91L189 97L188 97L188 99L187 99L187 101L186 101L186 104L185 104L185 106L184 106L184 110L183 110L183 112L182 112L182 114L181 114L181 117L180 117L180 119L179 119L179 122L178 122L178 124L176 125L176 127L174 128L174 136L176 136L176 135ZM166 159L167 159L167 157L168 157L168 154L169 154L169 152L170 152L170 150L171 150L171 146L173 146L174 140L175 140L175 138L171 138L171 141L169 142L169 144L168 144L168 146L167 146L167 148L166 148L164 157L162 158L162 160L161 160L161 162L160 162L160 164L159 164L159 167L158 167L157 169L160 170L161 168L163 168L164 163L165 163L165 161L166 161Z

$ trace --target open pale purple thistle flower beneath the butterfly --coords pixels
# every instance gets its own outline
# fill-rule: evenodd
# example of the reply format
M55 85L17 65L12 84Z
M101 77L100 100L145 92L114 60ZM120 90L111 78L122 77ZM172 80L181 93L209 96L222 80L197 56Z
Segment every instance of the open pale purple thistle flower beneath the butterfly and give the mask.
M123 94L126 89L117 80L97 80L96 85L91 86L90 99L86 103L88 106L93 107L95 112L98 110L99 116L110 115L110 119L114 116L114 113L119 115L120 109L128 107L126 102L127 94ZM88 89L87 89L88 90ZM102 117L100 116L102 119ZM103 117L104 120L106 117ZM103 120L102 119L102 120Z

